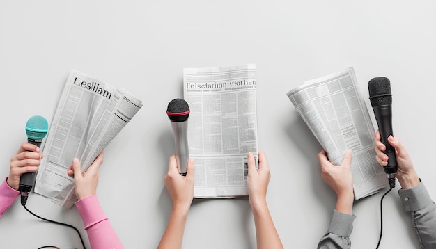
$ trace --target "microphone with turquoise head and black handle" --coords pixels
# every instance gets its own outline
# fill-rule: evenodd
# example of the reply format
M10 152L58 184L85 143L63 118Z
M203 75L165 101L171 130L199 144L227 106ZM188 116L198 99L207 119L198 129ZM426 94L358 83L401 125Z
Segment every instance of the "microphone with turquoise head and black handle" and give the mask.
M49 124L47 120L39 115L32 116L26 123L27 142L41 147L42 139L47 134ZM37 172L27 172L20 177L21 204L24 206L27 202L27 196L35 184Z

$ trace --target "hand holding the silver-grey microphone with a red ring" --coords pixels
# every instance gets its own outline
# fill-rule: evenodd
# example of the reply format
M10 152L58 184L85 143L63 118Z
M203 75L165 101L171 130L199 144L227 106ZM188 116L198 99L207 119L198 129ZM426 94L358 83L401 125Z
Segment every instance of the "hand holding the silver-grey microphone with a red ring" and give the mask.
M173 201L173 209L188 211L194 198L194 159L187 161L186 176L178 172L176 155L169 158L168 173L164 177L166 190Z

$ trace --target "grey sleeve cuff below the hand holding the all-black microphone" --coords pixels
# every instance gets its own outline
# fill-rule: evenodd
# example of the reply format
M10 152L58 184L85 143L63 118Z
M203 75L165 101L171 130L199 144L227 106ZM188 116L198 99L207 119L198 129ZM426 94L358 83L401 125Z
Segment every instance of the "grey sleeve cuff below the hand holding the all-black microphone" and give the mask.
M418 185L410 189L400 189L398 194L400 195L401 204L403 204L404 210L407 212L423 209L432 203L423 182L419 182Z

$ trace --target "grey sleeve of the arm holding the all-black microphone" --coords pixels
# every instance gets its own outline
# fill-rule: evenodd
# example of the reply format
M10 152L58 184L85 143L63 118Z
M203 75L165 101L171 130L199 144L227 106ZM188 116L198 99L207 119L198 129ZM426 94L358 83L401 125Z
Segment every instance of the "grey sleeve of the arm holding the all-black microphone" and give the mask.
M412 214L412 223L421 248L436 248L436 204L423 182L398 191L404 210Z

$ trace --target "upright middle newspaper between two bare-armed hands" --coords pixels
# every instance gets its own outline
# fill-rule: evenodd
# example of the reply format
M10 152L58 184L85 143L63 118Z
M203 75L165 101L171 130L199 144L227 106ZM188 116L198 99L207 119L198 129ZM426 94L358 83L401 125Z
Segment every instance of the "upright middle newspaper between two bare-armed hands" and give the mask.
M258 165L256 65L185 68L194 198L247 198L247 153Z

